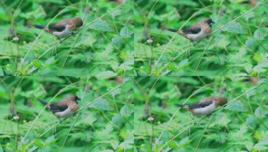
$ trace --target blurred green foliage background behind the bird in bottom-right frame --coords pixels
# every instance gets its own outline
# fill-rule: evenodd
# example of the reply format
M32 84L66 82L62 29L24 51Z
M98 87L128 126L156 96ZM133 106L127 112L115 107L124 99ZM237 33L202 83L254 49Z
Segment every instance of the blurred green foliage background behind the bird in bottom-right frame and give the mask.
M267 79L249 76L136 77L135 145L140 151L159 151L168 141L162 151L266 151L267 86ZM184 109L176 113L175 103L214 95L229 103L210 117L192 117Z

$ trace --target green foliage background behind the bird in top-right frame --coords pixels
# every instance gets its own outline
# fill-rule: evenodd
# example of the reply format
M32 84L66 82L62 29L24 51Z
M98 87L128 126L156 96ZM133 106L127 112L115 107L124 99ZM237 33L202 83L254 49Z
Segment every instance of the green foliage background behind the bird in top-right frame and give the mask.
M136 74L267 75L267 2L135 0ZM257 8L224 26L253 7ZM205 17L216 22L212 26L214 31L224 28L196 46L183 36L165 30L188 26Z

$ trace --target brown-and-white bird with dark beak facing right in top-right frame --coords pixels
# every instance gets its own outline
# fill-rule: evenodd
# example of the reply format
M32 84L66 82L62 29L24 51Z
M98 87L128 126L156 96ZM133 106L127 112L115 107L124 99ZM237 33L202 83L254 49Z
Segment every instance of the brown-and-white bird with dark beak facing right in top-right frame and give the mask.
M182 29L167 28L167 30L177 32L194 43L195 41L209 37L213 23L215 22L211 18L204 18L189 27L184 27Z

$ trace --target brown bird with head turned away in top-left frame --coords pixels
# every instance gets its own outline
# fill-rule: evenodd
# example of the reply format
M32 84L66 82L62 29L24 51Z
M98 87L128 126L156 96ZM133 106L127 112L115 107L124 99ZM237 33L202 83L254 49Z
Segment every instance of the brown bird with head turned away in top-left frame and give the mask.
M60 42L61 38L67 37L70 34L74 35L74 30L83 25L83 20L80 17L66 18L56 23L43 26L39 24L33 24L34 27L44 29L45 31L56 36Z

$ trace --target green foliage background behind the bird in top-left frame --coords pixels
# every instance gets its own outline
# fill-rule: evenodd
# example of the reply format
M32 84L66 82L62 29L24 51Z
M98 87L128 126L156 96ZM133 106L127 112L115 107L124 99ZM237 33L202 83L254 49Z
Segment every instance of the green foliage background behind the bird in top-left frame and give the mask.
M131 1L2 1L0 75L133 75ZM29 27L29 23L47 25L75 16L83 19L84 26L62 44L53 35Z

